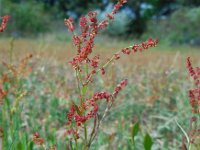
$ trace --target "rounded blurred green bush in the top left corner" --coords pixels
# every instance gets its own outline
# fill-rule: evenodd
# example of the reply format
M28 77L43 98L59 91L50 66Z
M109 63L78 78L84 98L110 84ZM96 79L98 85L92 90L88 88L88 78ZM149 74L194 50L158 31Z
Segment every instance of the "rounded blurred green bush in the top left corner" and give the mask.
M50 14L43 10L42 4L3 0L0 9L1 14L12 16L7 32L15 37L40 34L50 29Z

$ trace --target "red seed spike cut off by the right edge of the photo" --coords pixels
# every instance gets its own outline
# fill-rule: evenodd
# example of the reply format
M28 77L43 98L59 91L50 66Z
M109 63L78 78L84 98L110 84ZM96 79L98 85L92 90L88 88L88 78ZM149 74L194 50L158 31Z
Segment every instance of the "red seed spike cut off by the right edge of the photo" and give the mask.
M190 105L193 113L200 113L200 69L192 67L190 57L187 58L187 68L190 76L193 78L196 88L189 90Z

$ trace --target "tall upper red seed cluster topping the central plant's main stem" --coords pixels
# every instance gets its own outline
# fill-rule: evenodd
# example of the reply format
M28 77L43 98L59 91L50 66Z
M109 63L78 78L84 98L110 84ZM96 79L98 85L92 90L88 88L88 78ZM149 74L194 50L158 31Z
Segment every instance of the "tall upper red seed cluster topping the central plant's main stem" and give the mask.
M85 61L90 60L89 55L92 53L94 47L94 38L100 30L106 28L109 24L109 20L114 19L116 11L126 3L126 0L119 0L114 6L113 11L107 14L107 18L101 22L97 20L97 12L91 11L86 16L82 16L79 20L79 26L81 33L79 35L73 35L73 43L77 48L76 56L69 62L74 68L79 68L79 65ZM70 32L74 32L74 20L70 17L64 20L66 27ZM87 61L90 62L90 61Z

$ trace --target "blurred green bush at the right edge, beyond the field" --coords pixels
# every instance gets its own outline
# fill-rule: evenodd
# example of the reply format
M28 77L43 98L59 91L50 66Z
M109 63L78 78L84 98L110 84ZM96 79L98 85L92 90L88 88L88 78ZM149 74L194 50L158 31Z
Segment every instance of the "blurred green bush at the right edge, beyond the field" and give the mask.
M200 45L200 7L183 7L168 19L150 21L144 37L152 35L171 45Z

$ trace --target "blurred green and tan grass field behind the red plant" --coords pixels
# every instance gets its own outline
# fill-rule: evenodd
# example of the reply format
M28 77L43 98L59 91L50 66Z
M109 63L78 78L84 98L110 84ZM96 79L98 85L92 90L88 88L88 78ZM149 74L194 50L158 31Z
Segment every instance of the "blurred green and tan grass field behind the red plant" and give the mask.
M99 38L95 53L105 61L132 42ZM26 96L12 116L6 112L7 107L1 107L3 121L0 126L6 127L4 136L8 139L3 146L26 150L28 144L32 145L31 135L38 132L46 145L56 144L58 150L66 149L66 112L70 100L77 99L74 73L68 65L75 53L73 46L69 38L58 35L39 39L0 39L1 62L17 64L28 53L33 54L28 64L32 72L23 78L21 85ZM128 79L128 86L105 118L91 149L132 149L130 131L137 121L141 132L136 136L136 150L143 149L142 137L146 132L153 139L153 150L179 149L183 133L177 122L188 131L192 116L187 96L188 89L193 87L186 69L188 56L194 66L200 66L200 48L169 47L160 43L142 53L123 56L108 67L105 76L97 78L90 87L89 94L92 90L112 91L116 82L124 78ZM0 73L6 71L1 64ZM13 95L7 100L12 104ZM100 109L104 107L102 103ZM40 148L34 145L34 149Z

